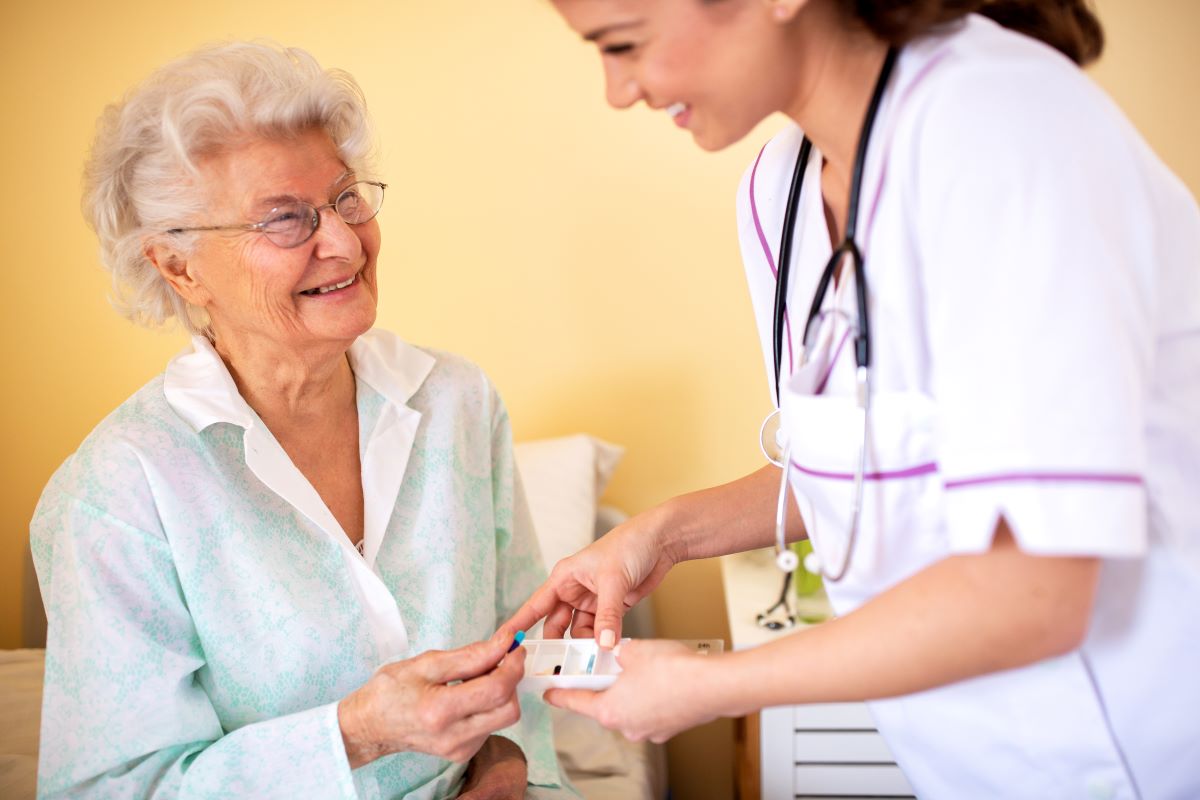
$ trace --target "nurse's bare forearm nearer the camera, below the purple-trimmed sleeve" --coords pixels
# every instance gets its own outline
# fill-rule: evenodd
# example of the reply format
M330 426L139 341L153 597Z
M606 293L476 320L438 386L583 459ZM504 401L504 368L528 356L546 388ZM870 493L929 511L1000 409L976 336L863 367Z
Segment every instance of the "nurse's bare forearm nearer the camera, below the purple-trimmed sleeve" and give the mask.
M1079 646L1099 561L992 549L940 561L856 612L728 657L724 714L908 694Z

